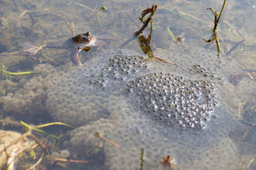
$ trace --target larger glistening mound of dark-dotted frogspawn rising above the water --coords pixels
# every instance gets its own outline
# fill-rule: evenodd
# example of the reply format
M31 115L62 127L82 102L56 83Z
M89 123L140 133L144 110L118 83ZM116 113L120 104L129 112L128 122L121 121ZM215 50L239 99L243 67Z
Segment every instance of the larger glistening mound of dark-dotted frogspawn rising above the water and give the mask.
M217 101L215 87L207 80L189 80L174 74L153 73L126 84L139 96L144 113L177 129L203 129Z

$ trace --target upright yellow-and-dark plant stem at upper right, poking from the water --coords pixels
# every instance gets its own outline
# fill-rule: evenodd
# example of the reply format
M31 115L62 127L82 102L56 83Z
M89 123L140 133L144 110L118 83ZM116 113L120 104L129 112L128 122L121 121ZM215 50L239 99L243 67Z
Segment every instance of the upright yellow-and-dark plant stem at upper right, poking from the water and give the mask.
M203 39L205 42L213 42L215 41L216 42L216 45L217 45L217 56L218 56L218 59L219 59L219 63L220 63L220 42L218 41L218 37L217 37L217 34L216 34L216 30L217 30L217 25L218 25L218 22L220 20L220 17L222 15L222 12L224 10L224 7L225 7L225 4L226 4L226 0L224 0L224 3L222 5L222 8L221 8L221 12L218 13L218 11L216 10L213 10L213 8L207 8L207 10L211 10L214 14L214 28L213 28L213 35L212 35L212 39L209 39L209 40L205 40Z

